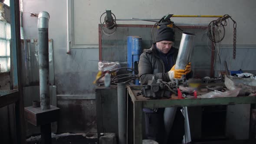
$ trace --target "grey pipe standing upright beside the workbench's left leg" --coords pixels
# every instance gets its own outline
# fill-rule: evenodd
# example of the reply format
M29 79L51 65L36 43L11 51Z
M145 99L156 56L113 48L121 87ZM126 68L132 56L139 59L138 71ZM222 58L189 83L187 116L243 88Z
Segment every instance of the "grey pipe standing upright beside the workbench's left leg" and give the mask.
M118 101L118 144L126 144L126 95L125 83L117 84Z

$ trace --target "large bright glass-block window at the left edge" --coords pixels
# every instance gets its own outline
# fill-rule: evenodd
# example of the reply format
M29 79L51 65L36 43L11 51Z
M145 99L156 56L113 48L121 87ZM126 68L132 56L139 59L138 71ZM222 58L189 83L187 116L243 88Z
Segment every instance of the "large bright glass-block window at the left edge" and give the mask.
M0 72L10 71L10 23L0 20Z

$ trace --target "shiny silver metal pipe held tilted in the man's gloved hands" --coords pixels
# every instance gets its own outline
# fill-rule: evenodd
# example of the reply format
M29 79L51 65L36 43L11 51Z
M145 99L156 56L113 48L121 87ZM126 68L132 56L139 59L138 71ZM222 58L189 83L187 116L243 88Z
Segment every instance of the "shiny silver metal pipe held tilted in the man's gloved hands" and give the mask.
M175 69L185 69L188 62L190 62L190 57L193 50L194 37L195 34L193 33L182 34Z

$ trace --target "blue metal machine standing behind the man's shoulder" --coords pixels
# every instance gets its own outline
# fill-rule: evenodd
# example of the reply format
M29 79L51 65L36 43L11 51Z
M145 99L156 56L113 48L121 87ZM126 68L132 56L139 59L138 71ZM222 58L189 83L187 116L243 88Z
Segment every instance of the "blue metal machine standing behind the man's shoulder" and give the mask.
M138 63L142 52L142 38L140 36L127 37L127 67L138 71ZM128 69L131 71L131 69ZM133 75L138 75L138 72L132 71ZM135 79L135 85L140 85L139 79Z

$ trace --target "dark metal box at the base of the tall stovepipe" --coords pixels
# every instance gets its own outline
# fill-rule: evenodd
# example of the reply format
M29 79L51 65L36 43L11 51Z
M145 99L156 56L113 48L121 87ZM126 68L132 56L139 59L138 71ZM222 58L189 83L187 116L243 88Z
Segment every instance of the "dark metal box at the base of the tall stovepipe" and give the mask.
M50 122L58 121L59 109L53 105L50 109L42 110L40 107L34 108L32 106L24 108L24 115L26 121L30 122L35 126L42 124L48 124Z

